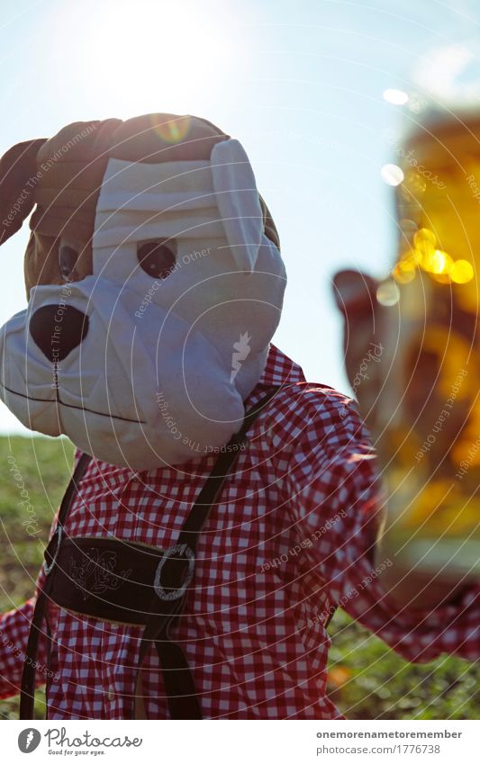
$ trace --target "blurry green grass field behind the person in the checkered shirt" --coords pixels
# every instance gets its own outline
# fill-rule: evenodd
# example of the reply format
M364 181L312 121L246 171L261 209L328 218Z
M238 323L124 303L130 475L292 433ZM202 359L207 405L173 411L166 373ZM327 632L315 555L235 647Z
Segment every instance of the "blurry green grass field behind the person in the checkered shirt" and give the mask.
M0 612L32 596L72 456L66 439L0 437ZM19 475L30 510L20 504L25 495ZM331 699L349 719L480 718L480 666L448 657L406 663L340 611L329 631ZM37 696L35 713L41 717ZM0 701L0 718L18 718L18 698Z

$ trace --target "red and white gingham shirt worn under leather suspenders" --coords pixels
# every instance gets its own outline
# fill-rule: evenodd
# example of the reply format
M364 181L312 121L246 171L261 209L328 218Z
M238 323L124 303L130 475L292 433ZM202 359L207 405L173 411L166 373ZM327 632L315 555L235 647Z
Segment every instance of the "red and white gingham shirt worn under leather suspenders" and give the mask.
M246 407L272 384L285 389L250 428L213 506L197 545L195 596L171 630L204 718L342 718L326 695L325 622L333 603L409 661L441 652L477 659L480 587L420 614L385 599L373 562L381 506L375 455L354 401L305 382L274 346ZM216 458L200 454L181 467L137 473L92 460L67 535L168 548ZM1 618L0 697L18 692L34 602ZM38 684L47 684L48 718L131 718L142 627L52 603L48 618L50 661L43 639L37 673ZM153 648L144 665L148 715L168 718Z

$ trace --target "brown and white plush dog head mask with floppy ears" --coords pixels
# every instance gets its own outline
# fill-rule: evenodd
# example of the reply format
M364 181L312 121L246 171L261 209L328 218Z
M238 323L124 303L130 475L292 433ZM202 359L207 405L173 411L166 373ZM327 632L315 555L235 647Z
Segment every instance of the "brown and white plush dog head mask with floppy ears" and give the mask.
M3 243L33 211L0 392L26 427L133 470L225 445L285 289L237 140L195 117L69 125L0 161Z

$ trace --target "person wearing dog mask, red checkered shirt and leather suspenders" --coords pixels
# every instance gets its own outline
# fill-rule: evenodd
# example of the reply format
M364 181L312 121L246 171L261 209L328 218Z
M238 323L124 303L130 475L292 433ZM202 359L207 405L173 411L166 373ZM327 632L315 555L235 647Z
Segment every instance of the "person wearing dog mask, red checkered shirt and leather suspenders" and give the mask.
M7 151L0 192L2 243L32 212L1 395L77 446L36 591L0 619L0 697L23 686L24 718L43 683L49 719L342 718L337 605L408 661L479 657L477 584L415 607L382 585L376 454L355 401L271 344L285 268L238 140L75 123Z

